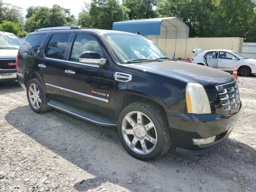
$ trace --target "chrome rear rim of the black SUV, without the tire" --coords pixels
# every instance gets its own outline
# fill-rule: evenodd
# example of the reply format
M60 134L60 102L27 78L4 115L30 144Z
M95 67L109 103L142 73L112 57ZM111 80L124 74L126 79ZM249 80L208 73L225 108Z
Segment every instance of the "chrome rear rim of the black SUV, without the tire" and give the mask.
M30 104L34 109L39 109L41 106L41 96L40 96L40 91L36 84L32 83L29 86L28 89L28 97Z

